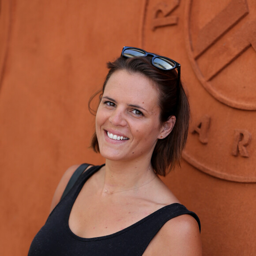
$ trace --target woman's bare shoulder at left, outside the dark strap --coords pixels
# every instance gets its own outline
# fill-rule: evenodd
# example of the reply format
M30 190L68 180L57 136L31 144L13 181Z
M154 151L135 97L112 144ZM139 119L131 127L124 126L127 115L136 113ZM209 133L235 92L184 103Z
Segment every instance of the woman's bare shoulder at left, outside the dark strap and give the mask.
M50 212L53 211L54 207L57 205L57 203L60 202L60 198L64 192L64 189L66 188L68 181L70 180L72 174L75 172L75 170L79 167L79 165L70 166L62 176L55 193L53 195L53 200L50 208ZM88 167L90 168L90 166ZM88 169L87 168L87 169Z

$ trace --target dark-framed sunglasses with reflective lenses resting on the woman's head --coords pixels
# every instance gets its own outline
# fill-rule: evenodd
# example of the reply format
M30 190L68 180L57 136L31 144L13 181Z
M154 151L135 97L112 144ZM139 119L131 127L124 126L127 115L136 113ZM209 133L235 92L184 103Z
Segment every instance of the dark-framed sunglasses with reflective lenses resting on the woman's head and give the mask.
M152 56L152 65L156 68L162 69L162 70L172 70L177 68L178 72L178 86L181 79L181 64L177 63L175 60L169 59L164 56L159 56L154 53L148 53L144 51L143 49L139 49L136 47L129 47L124 46L121 56L127 57L127 58L133 58L133 57L146 57L146 56Z

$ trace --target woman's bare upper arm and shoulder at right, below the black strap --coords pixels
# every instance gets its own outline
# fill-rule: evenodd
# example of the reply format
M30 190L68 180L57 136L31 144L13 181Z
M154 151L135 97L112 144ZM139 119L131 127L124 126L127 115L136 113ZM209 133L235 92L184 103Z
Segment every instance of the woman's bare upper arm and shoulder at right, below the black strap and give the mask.
M153 238L144 255L201 256L202 244L196 219L190 215L170 219Z

